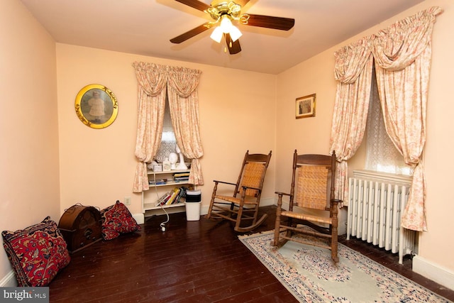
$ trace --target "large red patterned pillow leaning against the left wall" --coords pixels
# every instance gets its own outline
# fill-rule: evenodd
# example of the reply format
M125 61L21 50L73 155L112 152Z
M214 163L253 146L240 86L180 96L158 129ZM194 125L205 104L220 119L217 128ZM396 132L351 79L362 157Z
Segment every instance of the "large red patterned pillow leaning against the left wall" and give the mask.
M25 229L2 231L1 236L19 287L49 285L70 263L65 239L50 216Z

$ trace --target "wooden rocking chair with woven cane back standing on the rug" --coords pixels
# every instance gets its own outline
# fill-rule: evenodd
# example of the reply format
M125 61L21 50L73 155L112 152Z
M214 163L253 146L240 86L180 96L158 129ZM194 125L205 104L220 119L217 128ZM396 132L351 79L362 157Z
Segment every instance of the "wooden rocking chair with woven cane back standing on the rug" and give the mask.
M336 153L298 155L297 150L294 151L290 193L276 192L278 199L273 246L294 241L328 248L331 250L331 259L338 263L338 204L342 201L334 199L335 172ZM283 196L289 197L288 211L282 209ZM315 226L315 229L301 224ZM314 241L314 238L297 234L323 240Z

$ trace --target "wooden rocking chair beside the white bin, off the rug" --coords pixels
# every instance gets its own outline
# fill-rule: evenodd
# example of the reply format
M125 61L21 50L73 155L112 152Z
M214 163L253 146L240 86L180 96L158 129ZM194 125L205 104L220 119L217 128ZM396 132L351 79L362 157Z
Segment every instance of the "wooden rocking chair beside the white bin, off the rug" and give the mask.
M252 231L260 226L267 218L267 214L263 214L258 219L258 210L270 158L271 150L268 155L249 154L248 150L236 183L214 180L206 218L232 221L235 223L234 230L240 233ZM221 184L223 186L219 186Z

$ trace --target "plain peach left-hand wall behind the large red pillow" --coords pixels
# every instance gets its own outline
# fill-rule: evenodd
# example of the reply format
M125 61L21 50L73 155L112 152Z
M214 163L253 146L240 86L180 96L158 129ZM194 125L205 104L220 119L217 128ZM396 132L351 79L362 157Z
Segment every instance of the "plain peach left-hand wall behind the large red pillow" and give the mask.
M0 6L0 231L14 231L60 219L55 42L20 1ZM10 273L0 249L0 285Z

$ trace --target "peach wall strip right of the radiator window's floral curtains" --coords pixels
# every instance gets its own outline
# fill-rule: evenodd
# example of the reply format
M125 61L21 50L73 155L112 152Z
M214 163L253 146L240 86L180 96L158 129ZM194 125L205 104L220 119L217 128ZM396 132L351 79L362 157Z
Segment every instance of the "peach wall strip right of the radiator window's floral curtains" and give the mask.
M420 238L419 257L450 270L454 275L452 243L448 240L454 213L453 187L454 162L448 161L454 150L454 3L449 0L426 1L428 6L441 6L444 12L438 16L433 30L431 82L427 107L427 141L424 154L424 170L427 181L426 214L428 232ZM426 272L419 270L423 275ZM448 273L449 274L449 273ZM451 281L450 288L454 289Z

